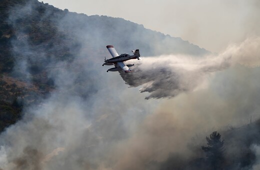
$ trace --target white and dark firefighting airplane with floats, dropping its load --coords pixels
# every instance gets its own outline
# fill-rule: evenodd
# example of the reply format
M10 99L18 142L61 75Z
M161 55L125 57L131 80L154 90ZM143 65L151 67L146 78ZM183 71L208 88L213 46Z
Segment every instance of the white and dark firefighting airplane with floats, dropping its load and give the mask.
M120 69L122 69L124 72L131 72L129 67L133 66L134 64L125 65L124 61L129 60L129 59L138 59L138 60L141 59L139 49L132 50L133 55L129 55L127 53L122 53L122 54L118 55L118 53L114 49L113 45L106 45L106 48L108 49L108 51L112 55L112 58L106 59L104 57L104 63L102 64L102 66L104 66L104 65L114 65L113 68L107 69L106 72L108 72L108 71L119 71Z

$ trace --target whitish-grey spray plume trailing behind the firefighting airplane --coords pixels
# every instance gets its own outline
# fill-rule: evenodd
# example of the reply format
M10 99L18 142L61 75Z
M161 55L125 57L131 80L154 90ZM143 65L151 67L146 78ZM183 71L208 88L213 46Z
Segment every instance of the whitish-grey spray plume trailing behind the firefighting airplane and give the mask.
M210 72L223 70L231 64L257 66L260 64L259 53L260 37L247 38L240 44L228 46L218 55L143 57L141 62L134 61L133 72L121 72L120 75L130 86L141 85L140 92L150 92L146 99L169 98L196 89Z

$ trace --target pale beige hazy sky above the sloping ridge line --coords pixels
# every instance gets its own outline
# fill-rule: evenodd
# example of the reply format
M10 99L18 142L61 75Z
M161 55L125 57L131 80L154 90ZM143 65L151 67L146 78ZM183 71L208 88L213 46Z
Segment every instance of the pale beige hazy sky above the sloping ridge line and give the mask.
M219 52L260 35L259 0L43 0L87 15L122 17Z

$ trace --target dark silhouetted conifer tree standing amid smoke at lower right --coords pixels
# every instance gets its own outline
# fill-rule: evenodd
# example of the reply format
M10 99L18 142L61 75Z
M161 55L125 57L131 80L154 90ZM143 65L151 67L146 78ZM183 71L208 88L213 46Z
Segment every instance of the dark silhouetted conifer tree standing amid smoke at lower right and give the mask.
M206 162L210 169L222 169L224 161L224 140L221 140L221 135L213 131L209 137L206 137L207 146L201 146L206 153Z

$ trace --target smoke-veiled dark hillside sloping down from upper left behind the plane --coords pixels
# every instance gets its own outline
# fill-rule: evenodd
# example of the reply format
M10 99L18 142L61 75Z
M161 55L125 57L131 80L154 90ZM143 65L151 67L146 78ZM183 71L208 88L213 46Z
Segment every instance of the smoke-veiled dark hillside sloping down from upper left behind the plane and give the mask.
M101 62L107 44L120 51L139 48L142 56L208 53L122 18L68 12L37 0L1 0L0 131L20 117L23 104L37 101L33 96L55 89L49 72L58 69L58 62L82 55ZM12 106L13 102L20 106Z

